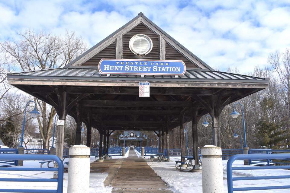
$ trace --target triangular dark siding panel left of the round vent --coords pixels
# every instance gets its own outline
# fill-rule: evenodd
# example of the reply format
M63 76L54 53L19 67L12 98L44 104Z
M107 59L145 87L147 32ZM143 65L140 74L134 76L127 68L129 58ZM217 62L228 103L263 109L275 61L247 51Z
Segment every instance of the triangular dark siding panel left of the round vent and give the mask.
M92 58L82 64L82 66L98 66L101 59L116 58L116 41L105 47L101 52L94 55Z

